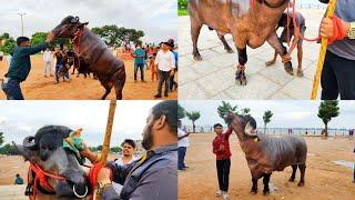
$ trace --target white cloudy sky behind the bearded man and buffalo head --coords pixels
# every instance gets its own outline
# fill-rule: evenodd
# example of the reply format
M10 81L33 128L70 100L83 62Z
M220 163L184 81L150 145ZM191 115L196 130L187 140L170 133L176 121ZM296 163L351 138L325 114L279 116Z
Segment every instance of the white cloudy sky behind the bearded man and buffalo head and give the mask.
M142 139L150 109L159 101L118 101L111 146ZM20 142L45 124L83 128L90 146L103 142L110 101L0 101L0 131L6 142Z

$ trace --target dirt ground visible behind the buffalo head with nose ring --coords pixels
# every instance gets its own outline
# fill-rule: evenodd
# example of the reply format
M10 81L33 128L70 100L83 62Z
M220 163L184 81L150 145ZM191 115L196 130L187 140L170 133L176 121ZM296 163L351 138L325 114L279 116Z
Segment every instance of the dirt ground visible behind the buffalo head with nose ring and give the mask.
M116 154L109 154L108 160L114 160ZM13 184L17 173L23 178L27 183L27 172L30 163L24 162L20 156L0 156L0 188L6 184ZM1 199L1 198L0 198Z

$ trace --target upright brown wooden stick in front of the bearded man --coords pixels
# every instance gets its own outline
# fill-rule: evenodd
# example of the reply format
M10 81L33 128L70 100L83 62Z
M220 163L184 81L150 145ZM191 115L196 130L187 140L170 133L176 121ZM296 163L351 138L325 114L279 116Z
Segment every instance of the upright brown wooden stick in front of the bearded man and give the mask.
M104 140L103 140L103 144L102 144L101 163L103 166L106 166L108 154L110 152L110 141L111 141L111 133L112 133L112 127L113 127L115 106L116 106L116 100L111 100L108 124L106 124L106 132L104 134Z

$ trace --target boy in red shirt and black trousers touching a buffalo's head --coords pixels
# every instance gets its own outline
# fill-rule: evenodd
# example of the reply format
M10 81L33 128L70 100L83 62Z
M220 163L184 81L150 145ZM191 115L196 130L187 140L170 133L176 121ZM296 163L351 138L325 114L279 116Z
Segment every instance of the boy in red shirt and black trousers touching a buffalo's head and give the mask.
M221 123L213 126L216 137L212 142L213 153L216 157L216 169L220 190L215 196L222 196L224 200L229 200L229 184L230 184L230 169L231 169L231 150L230 150L230 136L232 128L229 127L226 132L223 133L223 127Z

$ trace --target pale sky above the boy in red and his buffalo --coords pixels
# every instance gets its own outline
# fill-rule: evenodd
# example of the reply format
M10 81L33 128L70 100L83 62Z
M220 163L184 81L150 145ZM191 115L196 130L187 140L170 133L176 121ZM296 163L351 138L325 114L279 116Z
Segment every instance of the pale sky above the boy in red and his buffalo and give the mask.
M250 108L257 126L262 127L263 114L271 110L274 116L267 124L272 128L323 128L322 120L317 117L320 101L227 101L232 106L237 104L239 110ZM187 111L200 111L201 118L196 126L213 126L216 122L224 123L217 114L217 107L222 101L179 101ZM341 113L333 119L329 128L355 128L355 101L339 102ZM183 120L191 126L191 121Z

